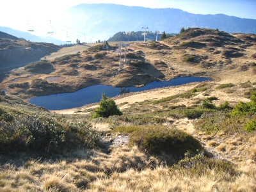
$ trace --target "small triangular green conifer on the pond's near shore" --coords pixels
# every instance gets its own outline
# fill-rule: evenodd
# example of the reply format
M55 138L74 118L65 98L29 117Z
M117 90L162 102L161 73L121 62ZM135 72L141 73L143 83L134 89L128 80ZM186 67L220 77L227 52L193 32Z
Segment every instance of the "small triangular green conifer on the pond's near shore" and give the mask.
M122 112L116 106L116 103L113 99L106 97L104 93L102 93L102 99L99 103L99 108L94 110L93 118L104 117L108 118L111 115L122 115Z

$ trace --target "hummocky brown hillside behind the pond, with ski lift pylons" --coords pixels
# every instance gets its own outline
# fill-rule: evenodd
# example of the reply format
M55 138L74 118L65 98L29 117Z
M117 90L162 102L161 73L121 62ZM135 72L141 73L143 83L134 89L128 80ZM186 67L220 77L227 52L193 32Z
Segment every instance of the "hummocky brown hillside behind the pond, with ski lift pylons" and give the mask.
M189 28L162 42L131 43L120 68L116 45L108 51L96 45L76 54L31 63L13 70L1 88L28 98L74 92L93 84L134 86L179 76L203 76L220 81L255 78L255 35L228 34ZM124 54L122 54L124 60ZM58 81L52 81L56 77Z

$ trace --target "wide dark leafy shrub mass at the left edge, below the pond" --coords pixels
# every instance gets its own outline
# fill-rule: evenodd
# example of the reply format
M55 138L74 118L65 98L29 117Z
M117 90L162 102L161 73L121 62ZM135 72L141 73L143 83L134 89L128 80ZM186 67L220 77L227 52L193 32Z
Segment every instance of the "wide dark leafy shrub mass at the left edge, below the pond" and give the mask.
M1 110L0 127L0 154L35 152L45 156L99 145L99 134L88 122L67 122L47 113Z

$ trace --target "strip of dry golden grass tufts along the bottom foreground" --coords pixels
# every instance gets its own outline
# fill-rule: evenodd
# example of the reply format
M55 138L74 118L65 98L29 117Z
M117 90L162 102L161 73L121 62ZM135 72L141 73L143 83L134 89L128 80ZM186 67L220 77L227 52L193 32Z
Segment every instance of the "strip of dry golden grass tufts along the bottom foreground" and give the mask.
M132 148L136 150L136 148ZM112 156L120 155L118 150ZM134 157L134 152L129 159ZM122 150L122 153L125 153ZM126 153L125 153L126 154ZM132 154L132 155L131 155ZM126 154L127 155L127 154ZM166 166L152 169L129 168L122 170L122 164L108 158L95 155L95 159L60 161L58 163L38 163L33 161L29 166L19 170L6 168L1 170L1 191L255 191L256 180L253 178L253 166L239 166L239 174L220 173L216 169L206 170L195 175L189 170L174 172ZM124 157L124 156L122 156ZM128 158L127 157L127 158ZM110 158L110 159L109 159ZM109 170L109 163L115 168ZM125 162L125 161L124 161ZM123 163L124 163L123 162ZM36 166L44 166L40 174L31 173ZM107 167L106 167L107 166ZM110 173L108 175L108 173Z

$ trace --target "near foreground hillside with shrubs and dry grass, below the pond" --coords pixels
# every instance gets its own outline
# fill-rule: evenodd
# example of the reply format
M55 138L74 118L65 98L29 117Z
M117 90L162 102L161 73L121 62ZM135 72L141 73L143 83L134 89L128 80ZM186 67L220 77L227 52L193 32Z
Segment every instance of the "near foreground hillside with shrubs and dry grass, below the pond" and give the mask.
M253 192L256 81L236 74L129 93L96 119L0 92L0 191Z

